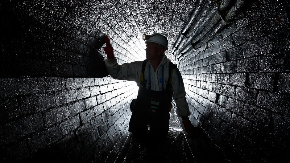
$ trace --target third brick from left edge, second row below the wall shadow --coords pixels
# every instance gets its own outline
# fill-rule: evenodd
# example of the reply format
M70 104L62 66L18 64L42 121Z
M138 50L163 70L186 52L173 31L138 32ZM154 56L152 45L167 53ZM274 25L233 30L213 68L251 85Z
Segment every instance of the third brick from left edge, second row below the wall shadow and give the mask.
M77 100L75 90L63 90L55 93L56 105L60 106Z

